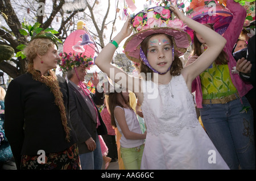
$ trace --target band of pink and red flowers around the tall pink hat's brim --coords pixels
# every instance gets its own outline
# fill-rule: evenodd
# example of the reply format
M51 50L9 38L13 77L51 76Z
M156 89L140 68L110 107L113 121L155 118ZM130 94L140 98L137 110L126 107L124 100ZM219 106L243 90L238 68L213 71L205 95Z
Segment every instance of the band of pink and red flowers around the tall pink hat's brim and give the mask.
M62 71L67 72L69 69L73 69L79 66L84 66L86 69L90 70L90 67L93 65L92 57L82 56L80 54L70 53L59 53L60 60L58 62Z

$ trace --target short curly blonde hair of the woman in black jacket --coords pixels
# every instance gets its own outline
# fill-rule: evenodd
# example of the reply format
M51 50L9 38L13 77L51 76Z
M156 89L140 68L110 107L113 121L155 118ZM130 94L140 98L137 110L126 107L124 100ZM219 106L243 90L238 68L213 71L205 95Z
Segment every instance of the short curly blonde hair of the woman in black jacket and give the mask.
M49 39L34 39L28 43L27 47L24 49L24 54L27 56L28 64L33 64L33 60L36 54L44 55L47 51L54 47L54 43Z

